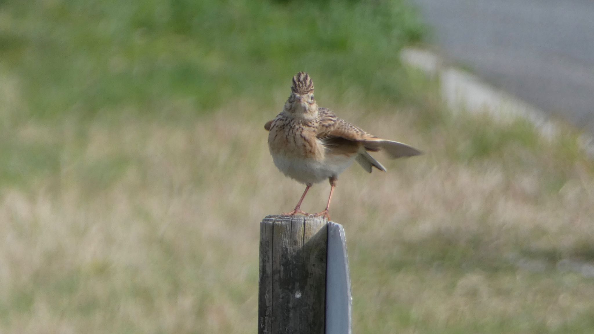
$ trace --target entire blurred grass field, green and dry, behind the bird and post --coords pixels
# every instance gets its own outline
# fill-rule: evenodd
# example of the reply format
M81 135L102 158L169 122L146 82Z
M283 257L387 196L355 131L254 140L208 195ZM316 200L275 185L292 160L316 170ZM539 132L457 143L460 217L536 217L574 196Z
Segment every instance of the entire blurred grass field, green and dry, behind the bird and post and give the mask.
M398 63L424 31L399 1L0 2L0 332L255 333L258 223L303 190L263 124L306 70L426 152L339 179L355 333L591 333L577 134L447 111Z

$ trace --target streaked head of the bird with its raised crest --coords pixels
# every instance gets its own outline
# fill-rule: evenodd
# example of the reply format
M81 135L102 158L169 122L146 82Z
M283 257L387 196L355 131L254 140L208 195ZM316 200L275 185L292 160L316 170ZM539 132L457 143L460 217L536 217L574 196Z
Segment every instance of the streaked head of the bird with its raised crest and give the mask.
M309 74L299 72L293 76L291 94L285 103L285 111L295 117L317 116L318 104L314 99L314 81Z

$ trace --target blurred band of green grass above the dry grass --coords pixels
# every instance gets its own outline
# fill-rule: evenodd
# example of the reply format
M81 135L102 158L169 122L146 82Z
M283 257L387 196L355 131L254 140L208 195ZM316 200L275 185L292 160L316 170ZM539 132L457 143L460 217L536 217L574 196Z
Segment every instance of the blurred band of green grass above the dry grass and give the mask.
M399 99L398 51L423 34L400 0L9 0L0 14L0 57L20 79L24 117L269 103L300 70L339 94Z

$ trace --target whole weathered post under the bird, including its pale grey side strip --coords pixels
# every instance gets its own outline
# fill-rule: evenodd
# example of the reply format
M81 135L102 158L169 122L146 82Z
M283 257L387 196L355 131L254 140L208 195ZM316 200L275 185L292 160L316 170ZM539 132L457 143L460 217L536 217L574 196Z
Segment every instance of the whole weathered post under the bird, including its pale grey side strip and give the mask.
M260 223L258 334L350 334L345 231L313 216Z

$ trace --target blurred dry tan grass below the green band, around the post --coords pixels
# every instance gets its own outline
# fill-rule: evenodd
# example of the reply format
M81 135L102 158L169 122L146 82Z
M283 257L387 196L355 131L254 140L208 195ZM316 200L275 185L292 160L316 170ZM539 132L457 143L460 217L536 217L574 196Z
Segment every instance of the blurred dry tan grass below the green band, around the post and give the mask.
M328 106L426 151L339 179L356 333L594 329L592 278L557 269L594 258L591 165L571 147L507 138L521 122ZM0 190L1 332L255 333L258 223L302 191L268 155L274 112L255 108L5 133L59 159ZM328 188L303 208L321 210Z

